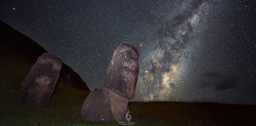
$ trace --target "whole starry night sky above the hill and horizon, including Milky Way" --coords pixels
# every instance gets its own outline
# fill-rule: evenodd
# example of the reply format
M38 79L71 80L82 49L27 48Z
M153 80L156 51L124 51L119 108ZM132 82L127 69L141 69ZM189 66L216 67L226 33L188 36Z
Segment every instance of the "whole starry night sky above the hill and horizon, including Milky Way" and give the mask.
M0 20L94 90L123 42L140 54L134 101L256 104L256 1L0 1Z

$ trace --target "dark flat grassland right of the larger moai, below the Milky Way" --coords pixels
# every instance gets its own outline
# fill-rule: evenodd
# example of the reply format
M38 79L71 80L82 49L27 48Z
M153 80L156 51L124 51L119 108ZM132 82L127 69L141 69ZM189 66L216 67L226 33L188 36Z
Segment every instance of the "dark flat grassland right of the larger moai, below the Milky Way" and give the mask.
M166 125L256 125L256 106L182 103L133 102L130 104L133 119Z

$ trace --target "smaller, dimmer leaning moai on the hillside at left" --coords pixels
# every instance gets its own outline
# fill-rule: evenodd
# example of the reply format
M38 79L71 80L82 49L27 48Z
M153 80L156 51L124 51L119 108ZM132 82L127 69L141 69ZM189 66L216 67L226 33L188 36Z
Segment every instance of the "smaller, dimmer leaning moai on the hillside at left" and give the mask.
M21 83L16 99L29 106L47 106L59 78L62 61L59 57L44 53L31 67Z

